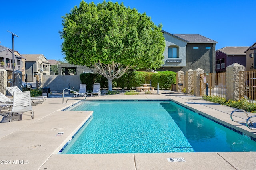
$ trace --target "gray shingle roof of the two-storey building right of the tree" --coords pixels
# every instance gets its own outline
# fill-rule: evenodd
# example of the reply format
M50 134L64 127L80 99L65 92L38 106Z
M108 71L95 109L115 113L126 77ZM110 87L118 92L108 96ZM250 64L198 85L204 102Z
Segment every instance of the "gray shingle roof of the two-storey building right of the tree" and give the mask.
M189 43L218 43L210 38L201 36L200 34L174 34L174 35L189 41Z

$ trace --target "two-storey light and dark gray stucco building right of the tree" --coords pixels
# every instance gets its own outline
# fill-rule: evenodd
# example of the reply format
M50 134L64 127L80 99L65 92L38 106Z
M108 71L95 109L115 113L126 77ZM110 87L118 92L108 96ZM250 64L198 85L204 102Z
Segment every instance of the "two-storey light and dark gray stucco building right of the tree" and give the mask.
M162 30L165 38L164 64L157 71L187 71L197 68L215 72L216 41L200 34L171 34Z

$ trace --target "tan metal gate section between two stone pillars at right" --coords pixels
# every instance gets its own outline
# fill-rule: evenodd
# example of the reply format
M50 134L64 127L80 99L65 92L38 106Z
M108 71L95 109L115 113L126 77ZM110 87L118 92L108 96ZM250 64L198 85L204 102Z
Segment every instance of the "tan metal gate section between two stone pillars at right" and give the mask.
M200 95L218 96L226 98L226 73L204 73L201 74ZM208 91L206 91L206 84L208 83ZM207 93L208 92L208 93Z

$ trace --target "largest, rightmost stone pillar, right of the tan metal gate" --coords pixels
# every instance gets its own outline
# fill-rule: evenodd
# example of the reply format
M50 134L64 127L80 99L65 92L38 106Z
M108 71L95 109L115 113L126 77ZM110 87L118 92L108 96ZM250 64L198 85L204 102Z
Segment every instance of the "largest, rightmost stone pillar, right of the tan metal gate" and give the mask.
M245 82L244 73L239 74L240 71L244 71L244 66L240 65L238 63L234 63L232 65L229 65L227 67L227 97L226 99L234 99L239 100L240 99L240 89L245 89L245 83L241 83L239 85L239 82ZM244 93L244 91L242 91ZM244 95L242 95L244 96Z

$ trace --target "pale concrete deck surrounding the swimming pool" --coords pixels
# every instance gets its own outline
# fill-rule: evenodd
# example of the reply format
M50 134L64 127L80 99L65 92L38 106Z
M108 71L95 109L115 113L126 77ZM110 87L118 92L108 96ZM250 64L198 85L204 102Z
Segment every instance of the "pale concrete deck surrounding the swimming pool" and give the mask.
M171 99L256 138L256 130L230 119L230 113L234 110L230 107L174 91L159 92L160 95L102 95L87 99ZM15 121L19 117L14 115L14 121L0 123L0 169L255 169L256 152L56 154L92 114L92 111L60 111L76 102L69 100L65 103L69 98L71 96L65 97L62 103L62 96L48 97L43 104L33 107L33 120L23 115L21 121ZM2 113L4 110L0 113L0 118L4 120ZM242 113L235 116L239 120L245 119ZM184 158L186 162L167 161L167 158L177 157Z

